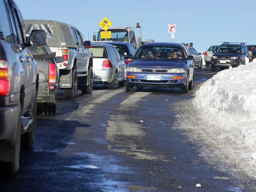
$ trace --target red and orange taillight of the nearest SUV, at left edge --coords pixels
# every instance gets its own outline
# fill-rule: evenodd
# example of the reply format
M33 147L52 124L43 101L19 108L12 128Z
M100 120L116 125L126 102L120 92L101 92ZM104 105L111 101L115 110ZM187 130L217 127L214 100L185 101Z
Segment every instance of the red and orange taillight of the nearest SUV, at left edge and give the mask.
M8 63L0 59L0 95L7 96L10 92Z

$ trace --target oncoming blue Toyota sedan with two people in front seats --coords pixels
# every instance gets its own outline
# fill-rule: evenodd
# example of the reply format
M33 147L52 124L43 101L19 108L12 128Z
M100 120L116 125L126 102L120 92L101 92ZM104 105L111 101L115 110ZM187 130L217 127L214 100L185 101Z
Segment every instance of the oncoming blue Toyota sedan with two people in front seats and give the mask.
M180 43L154 42L138 48L126 67L126 91L133 87L181 88L182 93L193 89L194 61L187 47Z

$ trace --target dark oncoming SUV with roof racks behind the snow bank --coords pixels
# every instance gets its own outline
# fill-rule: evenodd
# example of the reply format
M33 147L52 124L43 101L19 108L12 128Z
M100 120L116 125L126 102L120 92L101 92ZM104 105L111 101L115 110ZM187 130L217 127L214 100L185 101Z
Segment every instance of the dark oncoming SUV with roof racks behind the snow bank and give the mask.
M211 70L215 70L216 67L224 69L249 63L249 50L244 42L223 42L213 53Z

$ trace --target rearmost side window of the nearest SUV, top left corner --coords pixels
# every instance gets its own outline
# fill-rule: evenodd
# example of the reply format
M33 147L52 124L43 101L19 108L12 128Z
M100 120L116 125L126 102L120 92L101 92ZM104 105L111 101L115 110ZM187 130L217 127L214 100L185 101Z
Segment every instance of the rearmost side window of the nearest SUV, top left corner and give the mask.
M6 42L13 42L13 34L11 31L11 26L9 22L9 17L6 9L5 2L3 0L0 0L0 18L1 18L1 31L4 35L4 39Z

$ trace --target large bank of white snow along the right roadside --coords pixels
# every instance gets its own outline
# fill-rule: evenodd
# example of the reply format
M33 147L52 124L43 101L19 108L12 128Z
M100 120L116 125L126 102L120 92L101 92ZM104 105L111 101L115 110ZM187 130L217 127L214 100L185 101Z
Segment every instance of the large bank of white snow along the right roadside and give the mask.
M208 79L193 105L211 125L221 127L219 137L244 144L256 158L256 59Z

